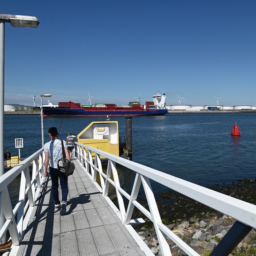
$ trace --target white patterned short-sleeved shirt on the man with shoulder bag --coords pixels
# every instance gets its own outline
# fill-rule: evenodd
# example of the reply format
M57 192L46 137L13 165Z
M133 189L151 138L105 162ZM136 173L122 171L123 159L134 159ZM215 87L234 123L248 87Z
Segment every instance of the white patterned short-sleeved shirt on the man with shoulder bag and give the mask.
M63 140L64 148L67 148L66 141ZM51 140L44 144L44 152L49 153L50 166L58 168L58 160L62 157L61 140Z

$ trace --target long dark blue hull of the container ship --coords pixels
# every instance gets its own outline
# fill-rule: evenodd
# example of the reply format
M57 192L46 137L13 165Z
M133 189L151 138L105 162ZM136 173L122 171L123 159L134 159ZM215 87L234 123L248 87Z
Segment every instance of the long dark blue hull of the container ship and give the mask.
M154 110L97 110L90 111L84 108L43 108L45 116L157 116L165 115L168 113L167 109L154 109Z

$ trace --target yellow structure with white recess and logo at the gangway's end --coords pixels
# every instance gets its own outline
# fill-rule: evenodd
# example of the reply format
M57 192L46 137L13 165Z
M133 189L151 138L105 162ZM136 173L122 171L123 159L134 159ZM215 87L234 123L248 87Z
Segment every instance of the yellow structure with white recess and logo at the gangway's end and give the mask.
M77 135L77 142L119 156L118 122L92 122Z

